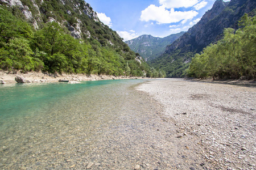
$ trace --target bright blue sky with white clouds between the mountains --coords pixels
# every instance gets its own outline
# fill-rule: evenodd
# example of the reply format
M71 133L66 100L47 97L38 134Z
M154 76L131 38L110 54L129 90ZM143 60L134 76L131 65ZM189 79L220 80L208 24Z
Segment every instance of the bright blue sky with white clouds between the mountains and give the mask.
M188 31L216 0L85 0L124 41ZM229 1L229 0L225 0Z

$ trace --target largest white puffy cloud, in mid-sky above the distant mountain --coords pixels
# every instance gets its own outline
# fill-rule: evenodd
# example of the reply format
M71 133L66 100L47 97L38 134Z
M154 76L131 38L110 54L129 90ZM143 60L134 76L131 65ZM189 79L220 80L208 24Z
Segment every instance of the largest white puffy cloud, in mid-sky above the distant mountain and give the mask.
M155 5L148 6L142 11L140 20L148 22L150 20L158 22L158 24L176 23L181 20L194 18L198 12L196 11L175 11L174 8L167 10L166 7Z

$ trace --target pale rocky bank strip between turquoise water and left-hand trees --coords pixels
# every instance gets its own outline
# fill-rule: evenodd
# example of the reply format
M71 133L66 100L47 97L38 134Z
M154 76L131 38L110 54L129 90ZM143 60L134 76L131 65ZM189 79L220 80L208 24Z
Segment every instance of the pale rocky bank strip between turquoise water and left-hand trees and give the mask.
M58 82L59 80L69 80L69 82L81 82L92 80L113 80L113 79L138 79L142 77L132 76L114 76L114 75L85 75L85 74L49 74L42 72L29 73L9 73L8 71L0 71L0 83L16 83L15 78L22 77L27 83L49 83Z

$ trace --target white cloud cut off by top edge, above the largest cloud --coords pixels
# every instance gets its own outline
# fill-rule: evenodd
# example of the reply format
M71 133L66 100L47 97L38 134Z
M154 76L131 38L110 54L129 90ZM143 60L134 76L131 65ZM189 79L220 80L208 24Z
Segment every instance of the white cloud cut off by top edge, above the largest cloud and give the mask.
M199 2L199 0L159 0L160 5L166 8L187 8L194 6Z

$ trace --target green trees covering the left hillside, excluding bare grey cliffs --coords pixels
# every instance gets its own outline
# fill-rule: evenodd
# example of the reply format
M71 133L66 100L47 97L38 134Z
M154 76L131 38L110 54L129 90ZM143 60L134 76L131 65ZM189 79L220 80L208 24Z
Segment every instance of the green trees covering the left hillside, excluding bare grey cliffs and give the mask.
M53 2L44 3L41 8L50 10L48 3ZM133 76L144 76L144 71L150 70L146 62L137 61L139 56L116 32L86 15L81 15L81 29L91 31L91 36L83 35L82 39L75 39L67 27L57 22L40 23L40 28L35 29L20 16L12 8L0 8L2 70ZM76 24L71 16L59 16L67 16L69 24Z

